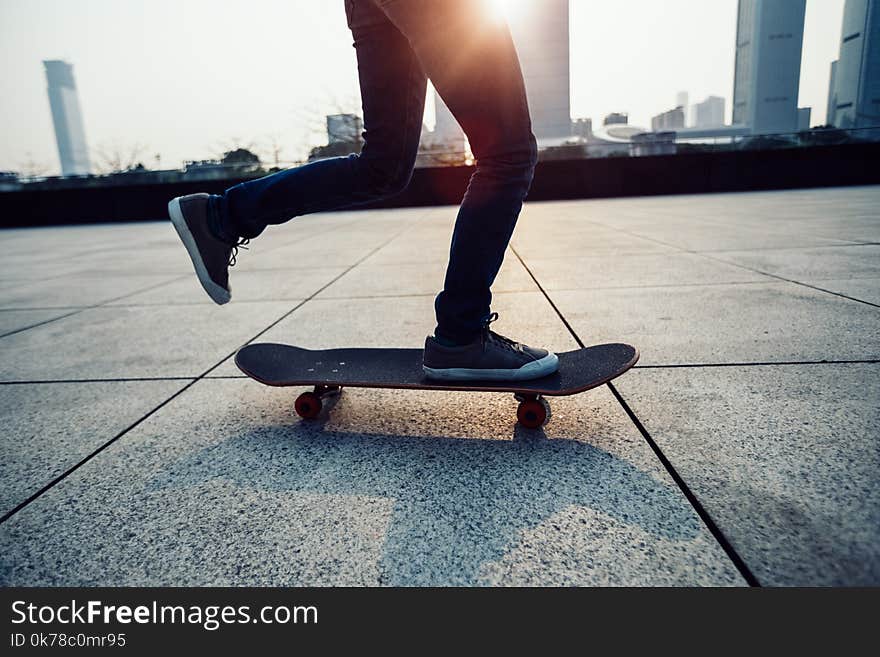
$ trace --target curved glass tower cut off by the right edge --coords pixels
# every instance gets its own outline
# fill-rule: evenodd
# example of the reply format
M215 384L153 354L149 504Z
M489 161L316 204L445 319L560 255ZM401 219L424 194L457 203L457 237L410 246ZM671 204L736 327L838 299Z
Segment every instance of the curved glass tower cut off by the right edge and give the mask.
M880 1L846 0L840 58L833 75L839 128L880 126Z

